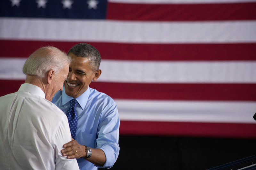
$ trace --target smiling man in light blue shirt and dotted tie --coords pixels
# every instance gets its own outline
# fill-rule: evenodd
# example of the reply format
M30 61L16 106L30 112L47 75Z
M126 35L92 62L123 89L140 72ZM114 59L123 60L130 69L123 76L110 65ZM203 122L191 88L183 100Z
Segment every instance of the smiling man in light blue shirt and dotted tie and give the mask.
M72 61L62 92L52 102L68 116L75 140L61 152L77 159L80 169L110 168L119 154L119 115L114 100L89 87L101 74L100 53L90 44L76 44L68 51Z

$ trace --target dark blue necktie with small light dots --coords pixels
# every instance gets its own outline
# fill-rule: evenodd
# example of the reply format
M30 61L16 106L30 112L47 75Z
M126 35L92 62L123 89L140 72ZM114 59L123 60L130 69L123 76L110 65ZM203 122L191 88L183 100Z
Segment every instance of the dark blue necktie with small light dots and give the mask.
M73 139L76 139L77 115L76 115L76 99L70 100L70 107L67 112L68 124Z

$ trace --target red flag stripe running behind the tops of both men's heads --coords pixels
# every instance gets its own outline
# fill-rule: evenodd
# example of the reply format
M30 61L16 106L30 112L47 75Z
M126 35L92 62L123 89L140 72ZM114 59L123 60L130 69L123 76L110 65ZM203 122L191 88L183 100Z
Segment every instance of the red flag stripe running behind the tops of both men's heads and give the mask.
M47 45L68 50L80 42L0 40L0 57L28 57ZM230 61L256 60L256 43L240 44L122 44L86 42L103 59L141 61ZM15 47L15 50L13 50ZM114 49L114 50L113 50Z

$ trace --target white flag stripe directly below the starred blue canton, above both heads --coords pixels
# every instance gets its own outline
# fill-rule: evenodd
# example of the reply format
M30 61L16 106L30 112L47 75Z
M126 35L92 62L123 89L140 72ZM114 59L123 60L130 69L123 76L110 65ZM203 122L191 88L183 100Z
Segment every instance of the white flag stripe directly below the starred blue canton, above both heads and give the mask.
M83 28L83 29L81 29ZM0 38L126 43L256 42L256 21L138 22L0 18Z

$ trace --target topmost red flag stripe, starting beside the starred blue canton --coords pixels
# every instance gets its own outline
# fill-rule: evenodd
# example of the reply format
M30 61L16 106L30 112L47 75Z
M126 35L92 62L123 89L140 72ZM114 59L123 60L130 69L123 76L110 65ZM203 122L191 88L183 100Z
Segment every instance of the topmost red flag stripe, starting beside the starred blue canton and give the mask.
M108 3L107 19L141 21L209 21L256 19L256 3L126 4Z

